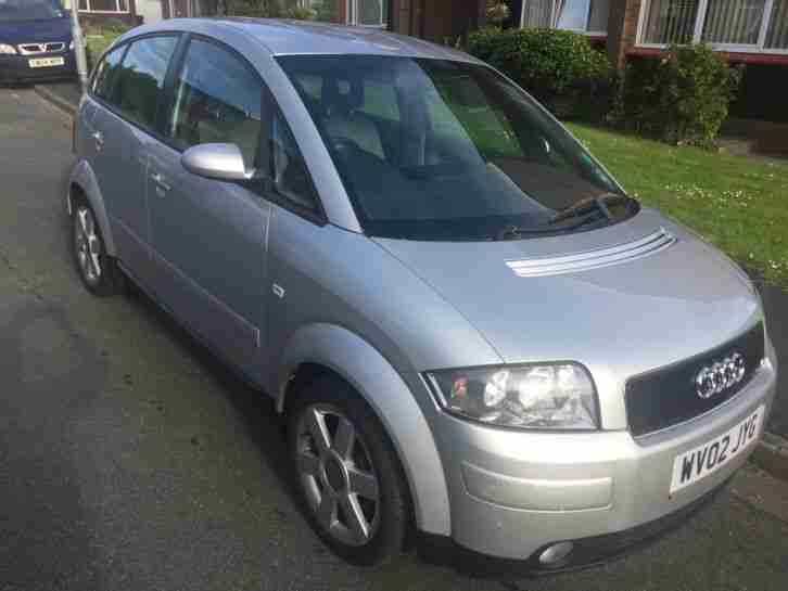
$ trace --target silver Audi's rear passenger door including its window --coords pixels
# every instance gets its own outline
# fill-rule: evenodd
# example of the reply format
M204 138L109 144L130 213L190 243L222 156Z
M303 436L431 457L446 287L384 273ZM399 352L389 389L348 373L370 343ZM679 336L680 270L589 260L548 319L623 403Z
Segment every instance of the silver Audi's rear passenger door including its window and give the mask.
M111 90L92 119L100 153L96 174L124 267L150 283L150 223L145 202L148 145L158 134L164 80L179 36L142 37L123 48ZM119 50L116 50L119 51Z

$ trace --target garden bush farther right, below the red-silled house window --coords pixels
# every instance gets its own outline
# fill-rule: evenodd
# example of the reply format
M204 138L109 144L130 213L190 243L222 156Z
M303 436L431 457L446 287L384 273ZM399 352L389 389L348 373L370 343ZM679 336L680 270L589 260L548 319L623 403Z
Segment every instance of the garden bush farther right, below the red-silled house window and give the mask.
M670 143L711 146L741 80L704 44L674 46L661 60L636 59L626 66L615 118Z

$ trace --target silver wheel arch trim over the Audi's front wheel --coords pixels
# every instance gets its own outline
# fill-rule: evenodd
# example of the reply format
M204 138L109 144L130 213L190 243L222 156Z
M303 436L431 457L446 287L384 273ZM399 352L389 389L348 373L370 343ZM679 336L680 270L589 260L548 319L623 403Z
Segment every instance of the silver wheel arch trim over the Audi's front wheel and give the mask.
M348 383L380 420L399 458L416 526L450 536L448 488L432 429L407 384L367 341L334 324L312 324L288 341L277 376L277 411L290 407L302 380L329 372Z

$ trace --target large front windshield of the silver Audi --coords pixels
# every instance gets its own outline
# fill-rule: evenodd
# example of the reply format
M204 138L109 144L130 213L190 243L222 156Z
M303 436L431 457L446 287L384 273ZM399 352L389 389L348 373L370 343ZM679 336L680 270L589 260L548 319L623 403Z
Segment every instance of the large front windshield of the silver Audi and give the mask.
M533 99L483 65L278 59L369 235L512 240L580 232L637 203Z

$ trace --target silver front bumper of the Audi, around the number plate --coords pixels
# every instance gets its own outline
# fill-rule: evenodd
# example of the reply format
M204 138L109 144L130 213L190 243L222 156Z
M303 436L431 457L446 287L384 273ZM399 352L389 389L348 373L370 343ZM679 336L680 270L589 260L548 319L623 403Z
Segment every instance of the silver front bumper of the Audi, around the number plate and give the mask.
M735 398L688 423L637 439L626 431L494 429L439 413L434 433L448 481L454 542L473 553L538 568L544 567L538 555L547 547L574 541L567 560L552 565L572 568L600 560L583 540L617 540L607 548L618 554L627 540L635 543L640 534L658 534L662 527L653 524L671 522L668 516L683 515L719 489L757 444L671 494L674 459L724 434L761 406L764 428L776 371L767 344L766 360ZM627 535L633 531L638 534Z

